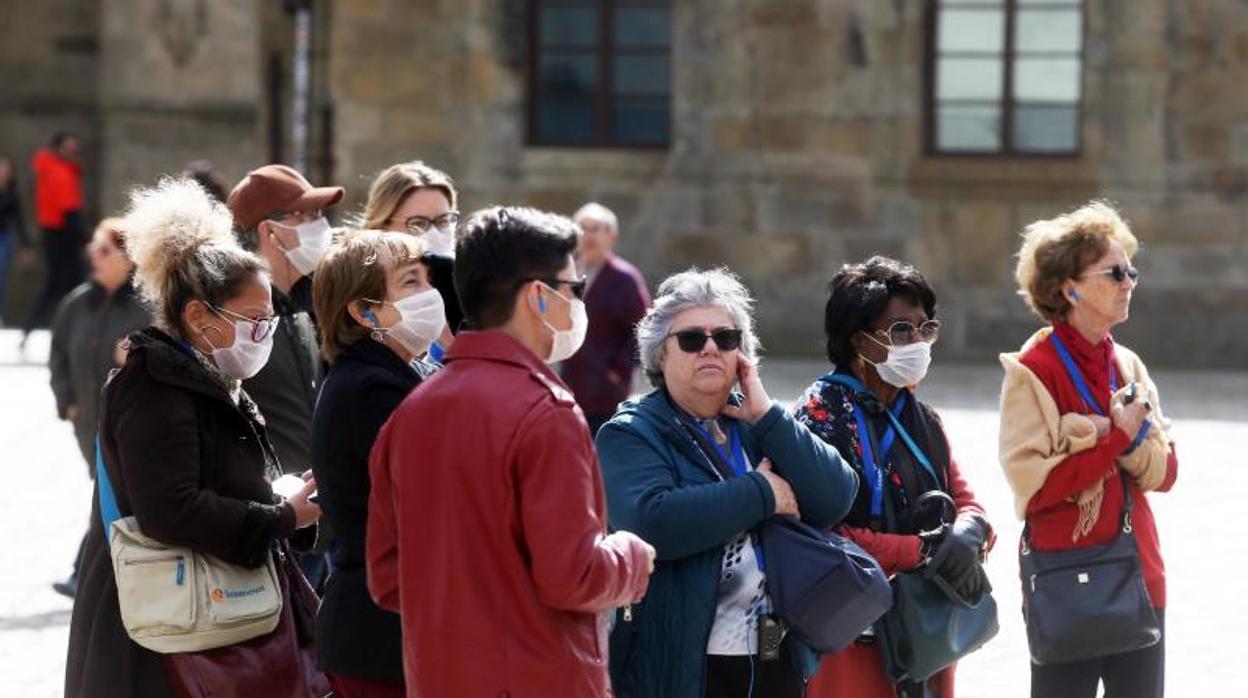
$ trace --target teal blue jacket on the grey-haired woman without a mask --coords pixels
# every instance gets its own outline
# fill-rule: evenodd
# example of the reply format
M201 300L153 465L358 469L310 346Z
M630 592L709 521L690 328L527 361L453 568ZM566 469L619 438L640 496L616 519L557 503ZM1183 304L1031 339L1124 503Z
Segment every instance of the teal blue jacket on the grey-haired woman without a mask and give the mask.
M739 427L750 462L770 458L792 487L802 521L829 527L849 512L854 469L779 403ZM771 488L758 472L724 479L661 388L620 405L597 446L612 528L636 533L658 552L645 598L629 609L630 619L618 613L612 631L615 694L703 698L723 548L774 513ZM785 642L804 676L814 673L817 656L791 636Z

